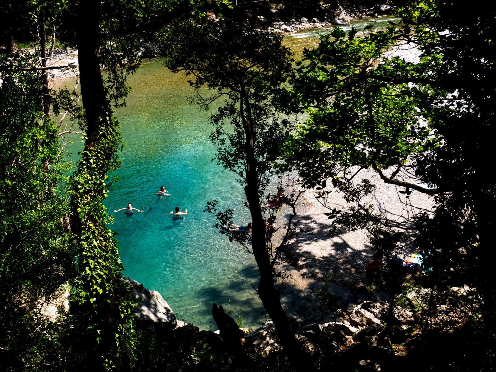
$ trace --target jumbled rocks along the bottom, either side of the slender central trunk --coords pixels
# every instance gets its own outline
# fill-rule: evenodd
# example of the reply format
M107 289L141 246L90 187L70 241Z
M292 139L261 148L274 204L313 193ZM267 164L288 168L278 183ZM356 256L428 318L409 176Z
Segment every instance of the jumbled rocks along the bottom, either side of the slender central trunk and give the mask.
M332 363L333 367L344 367L347 371L395 370L391 369L397 363L395 358L405 356L418 339L417 319L416 313L400 306L364 301L332 321L300 327L296 334L308 350L320 349L317 361L320 366ZM230 333L222 329L200 331L193 325L182 324L169 332L167 338L171 343L187 339L190 345L207 344L212 355L267 356L281 350L271 320L247 333L240 333L239 329ZM189 364L198 363L194 354L184 357Z

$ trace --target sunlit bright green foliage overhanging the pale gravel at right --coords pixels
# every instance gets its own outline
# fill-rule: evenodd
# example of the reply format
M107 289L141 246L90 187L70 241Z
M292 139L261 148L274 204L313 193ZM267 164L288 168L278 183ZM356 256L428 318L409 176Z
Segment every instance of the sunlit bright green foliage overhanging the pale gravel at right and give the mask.
M321 36L318 48L305 51L307 63L299 63L292 90L309 119L292 136L288 158L300 162L308 186L353 174L351 166L394 167L396 175L440 145L425 121L419 124L427 120L418 107L420 102L430 107L430 87L388 82L391 70L401 75L408 65L383 54L396 36L394 28L364 37L357 32L335 28ZM418 73L411 80L419 79L428 80Z

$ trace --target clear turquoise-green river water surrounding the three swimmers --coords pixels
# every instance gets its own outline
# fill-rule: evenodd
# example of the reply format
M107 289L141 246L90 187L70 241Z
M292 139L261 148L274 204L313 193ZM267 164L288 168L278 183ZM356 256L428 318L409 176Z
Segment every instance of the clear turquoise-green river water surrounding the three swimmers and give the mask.
M379 18L375 25L384 27L390 19ZM363 29L370 22L353 26ZM299 58L325 31L306 30L285 38L285 43ZM189 105L186 96L193 90L184 74L172 74L160 63L144 63L128 82L132 90L127 106L115 113L125 142L122 167L105 201L110 213L127 203L144 211L131 217L124 211L113 213L124 275L159 291L178 319L201 328L216 329L212 303L226 307L229 301L235 318L241 312L245 326L258 325L264 309L250 284L258 281L254 259L220 235L213 216L203 212L213 198L221 208L235 210L235 223L249 220L244 191L234 175L210 161L214 149L208 139L209 112ZM72 140L75 154L80 142L77 136ZM157 197L160 186L171 196ZM169 215L176 206L188 210L184 220Z

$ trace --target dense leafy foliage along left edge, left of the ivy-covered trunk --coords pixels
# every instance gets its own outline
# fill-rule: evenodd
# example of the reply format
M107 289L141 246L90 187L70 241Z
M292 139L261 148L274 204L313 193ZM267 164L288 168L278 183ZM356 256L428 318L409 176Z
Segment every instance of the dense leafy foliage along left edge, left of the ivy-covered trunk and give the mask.
M64 349L45 304L75 275L62 224L70 164L41 112L41 74L19 70L33 58L17 62L0 80L0 366L54 371Z

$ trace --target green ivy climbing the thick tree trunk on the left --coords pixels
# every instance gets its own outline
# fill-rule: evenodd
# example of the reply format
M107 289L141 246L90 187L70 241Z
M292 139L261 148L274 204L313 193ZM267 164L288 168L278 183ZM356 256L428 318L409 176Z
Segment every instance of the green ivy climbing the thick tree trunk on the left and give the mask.
M71 179L75 202L72 220L79 231L69 241L77 257L78 272L70 302L73 324L89 341L82 352L97 349L99 364L115 370L133 358L131 310L135 301L122 279L117 241L107 227L112 217L103 205L112 183L107 174L120 167L118 150L123 149L118 120L111 118L107 123L96 141L88 144L83 137L87 145Z

